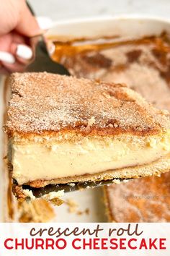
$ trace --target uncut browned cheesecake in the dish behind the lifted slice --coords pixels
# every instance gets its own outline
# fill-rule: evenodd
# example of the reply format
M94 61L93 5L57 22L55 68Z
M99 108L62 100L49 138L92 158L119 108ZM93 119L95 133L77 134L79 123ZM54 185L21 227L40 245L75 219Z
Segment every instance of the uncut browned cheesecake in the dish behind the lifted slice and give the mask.
M154 106L170 108L169 34L94 39L60 43L53 38L56 51L52 57L76 77L125 82Z

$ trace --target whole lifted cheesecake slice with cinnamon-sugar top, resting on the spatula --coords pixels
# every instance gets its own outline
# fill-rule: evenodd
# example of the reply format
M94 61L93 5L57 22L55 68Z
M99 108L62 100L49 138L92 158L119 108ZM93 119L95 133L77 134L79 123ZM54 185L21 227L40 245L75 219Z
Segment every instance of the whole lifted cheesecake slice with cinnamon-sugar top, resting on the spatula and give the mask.
M35 198L42 188L52 200L57 195L53 187L45 190L49 184L73 187L169 171L169 112L125 85L45 72L12 74L9 82L4 129L19 199Z

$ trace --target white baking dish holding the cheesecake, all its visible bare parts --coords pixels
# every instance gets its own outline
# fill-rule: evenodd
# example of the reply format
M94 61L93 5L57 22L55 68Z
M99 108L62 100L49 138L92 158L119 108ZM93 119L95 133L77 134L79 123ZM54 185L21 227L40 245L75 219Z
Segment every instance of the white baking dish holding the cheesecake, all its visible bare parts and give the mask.
M123 17L93 17L84 20L68 20L64 22L54 22L53 27L45 34L47 38L55 36L57 40L68 40L76 38L98 38L103 36L120 36L123 38L139 38L145 35L158 35L166 30L170 33L170 20L161 18L141 17L138 15L128 15ZM0 80L0 126L3 123L3 85L4 80ZM114 82L114 81L113 81ZM0 132L0 149L3 150L3 132ZM2 151L1 151L2 152ZM1 153L0 152L0 153ZM6 189L4 185L4 169L1 153L0 162L0 221L4 221L6 209ZM102 189L86 189L83 192L73 192L67 194L67 198L72 198L79 205L79 210L89 208L90 214L78 216L76 213L68 213L66 205L56 208L56 221L59 222L99 222L105 221L104 207L102 204ZM103 210L102 210L103 209ZM8 216L5 216L6 219Z

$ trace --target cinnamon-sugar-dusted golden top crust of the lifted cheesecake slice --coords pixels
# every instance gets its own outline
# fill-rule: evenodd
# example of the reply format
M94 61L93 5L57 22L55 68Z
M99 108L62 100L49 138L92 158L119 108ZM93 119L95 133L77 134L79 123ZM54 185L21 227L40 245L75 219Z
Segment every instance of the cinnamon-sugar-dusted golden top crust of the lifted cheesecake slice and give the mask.
M9 135L76 131L151 135L169 129L169 112L153 108L126 85L58 74L14 73L5 131Z

